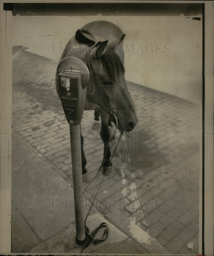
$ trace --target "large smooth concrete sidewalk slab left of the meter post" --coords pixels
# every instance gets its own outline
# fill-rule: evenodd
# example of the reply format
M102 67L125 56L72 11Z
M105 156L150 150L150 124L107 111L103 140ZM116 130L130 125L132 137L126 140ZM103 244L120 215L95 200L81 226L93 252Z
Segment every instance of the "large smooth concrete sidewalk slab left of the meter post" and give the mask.
M12 161L18 166L12 171L12 202L39 239L48 239L75 221L74 212L53 208L52 199L73 199L73 189L17 133L12 135L12 145L16 150Z

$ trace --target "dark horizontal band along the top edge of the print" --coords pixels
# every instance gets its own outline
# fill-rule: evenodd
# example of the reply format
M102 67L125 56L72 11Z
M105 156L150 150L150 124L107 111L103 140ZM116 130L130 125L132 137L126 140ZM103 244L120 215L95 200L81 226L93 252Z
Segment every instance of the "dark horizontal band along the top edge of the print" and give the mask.
M5 3L6 10L12 10L13 15L125 15L125 16L198 16L202 15L201 3ZM5 9L6 7L4 7Z

